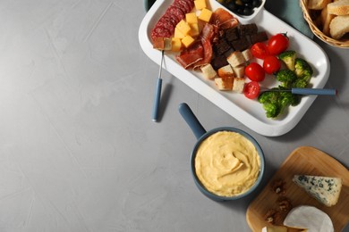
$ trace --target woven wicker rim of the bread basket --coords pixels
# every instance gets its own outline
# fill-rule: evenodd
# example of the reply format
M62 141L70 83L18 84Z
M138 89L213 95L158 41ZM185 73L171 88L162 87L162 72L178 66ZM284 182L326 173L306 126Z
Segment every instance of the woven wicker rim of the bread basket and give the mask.
M308 9L306 7L308 3L308 0L300 0L300 4L302 7L303 17L305 21L308 22L309 27L311 28L312 33L314 33L315 36L319 37L322 41L327 43L330 46L336 46L340 48L349 48L349 39L343 39L343 40L336 40L332 37L326 36L324 33L322 33L321 30L318 29L318 27L315 25L314 21L311 19L310 12L308 12Z

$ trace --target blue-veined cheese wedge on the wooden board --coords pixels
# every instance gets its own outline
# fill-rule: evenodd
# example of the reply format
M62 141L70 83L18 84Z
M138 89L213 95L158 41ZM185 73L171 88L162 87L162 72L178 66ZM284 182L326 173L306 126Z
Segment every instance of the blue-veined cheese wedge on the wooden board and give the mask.
M294 175L293 181L320 203L332 206L338 202L342 189L341 178Z

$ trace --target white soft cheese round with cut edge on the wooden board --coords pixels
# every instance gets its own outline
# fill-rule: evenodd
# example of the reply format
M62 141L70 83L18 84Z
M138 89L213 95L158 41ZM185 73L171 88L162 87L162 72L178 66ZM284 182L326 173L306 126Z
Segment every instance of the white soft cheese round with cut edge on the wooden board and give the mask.
M288 212L284 225L292 228L306 228L308 232L333 232L332 220L318 208L301 205Z

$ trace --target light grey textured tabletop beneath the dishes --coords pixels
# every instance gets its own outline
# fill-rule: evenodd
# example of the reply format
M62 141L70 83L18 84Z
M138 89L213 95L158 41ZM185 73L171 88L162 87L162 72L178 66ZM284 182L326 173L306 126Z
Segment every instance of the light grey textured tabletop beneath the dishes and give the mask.
M0 2L0 231L249 231L255 195L216 203L194 185L183 102L205 128L259 141L263 184L302 145L349 167L349 50L314 39L339 95L318 97L283 136L260 136L166 71L154 123L144 15L141 1Z

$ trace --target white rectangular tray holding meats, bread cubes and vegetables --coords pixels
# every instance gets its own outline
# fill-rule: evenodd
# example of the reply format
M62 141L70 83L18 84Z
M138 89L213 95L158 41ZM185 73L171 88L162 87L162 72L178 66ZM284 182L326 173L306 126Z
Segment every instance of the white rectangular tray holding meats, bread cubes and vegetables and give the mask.
M218 4L215 0L208 1L213 11L218 7L224 8L224 6ZM144 53L157 64L161 61L161 52L153 48L150 40L150 31L172 2L172 0L157 0L140 24L140 46ZM311 86L317 88L325 86L330 70L328 56L310 38L305 37L284 21L279 20L263 7L252 18L235 17L243 24L255 22L259 31L266 31L269 37L280 32L286 32L290 38L289 49L295 50L298 56L310 62L314 69ZM263 136L277 137L289 132L302 119L304 113L316 99L315 95L303 96L300 104L289 107L288 112L283 117L272 120L266 117L262 105L257 100L250 100L242 94L217 90L214 81L204 79L200 71L184 70L175 61L173 53L166 54L163 67L177 79L182 80L200 95L206 97L213 104L216 104L219 108L230 114L234 119L241 121L246 127L251 128ZM267 76L261 85L263 87L276 87L277 82L275 78Z

